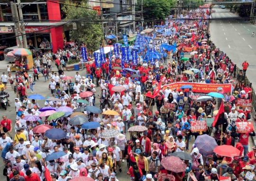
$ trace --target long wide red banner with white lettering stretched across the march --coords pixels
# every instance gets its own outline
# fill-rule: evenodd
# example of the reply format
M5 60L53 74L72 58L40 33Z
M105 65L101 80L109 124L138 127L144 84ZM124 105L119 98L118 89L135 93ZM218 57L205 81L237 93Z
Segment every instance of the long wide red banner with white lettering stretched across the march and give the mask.
M192 86L192 92L195 95L207 95L210 92L217 92L218 87L222 87L224 93L231 92L231 84L201 84L201 83L191 83L191 82L177 82L163 86L163 90L167 89L167 86L170 86L170 89L173 90L176 88L177 91L181 86L189 85ZM185 89L185 92L188 92L188 89Z

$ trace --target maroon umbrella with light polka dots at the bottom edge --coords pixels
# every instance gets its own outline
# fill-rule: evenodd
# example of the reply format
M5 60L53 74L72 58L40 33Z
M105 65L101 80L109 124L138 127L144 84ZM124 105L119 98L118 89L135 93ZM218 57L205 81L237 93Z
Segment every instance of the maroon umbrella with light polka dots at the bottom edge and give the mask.
M164 157L161 161L161 165L169 171L179 173L186 171L186 164L176 156L167 156Z

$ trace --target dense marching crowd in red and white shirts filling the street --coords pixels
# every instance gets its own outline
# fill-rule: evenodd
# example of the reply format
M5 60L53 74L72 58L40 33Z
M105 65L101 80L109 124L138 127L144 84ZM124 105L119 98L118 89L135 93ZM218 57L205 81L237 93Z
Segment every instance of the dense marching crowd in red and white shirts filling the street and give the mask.
M191 53L187 60L184 59L183 48L177 48L172 54L167 50L160 53L161 58L155 59L152 65L149 61L143 61L147 52L145 50L139 53L138 66L131 63L124 65L134 72L122 70L121 60L114 57L110 57L110 62L107 59L101 68L96 68L94 59L88 55L88 62L84 66L87 70L86 77L80 76L79 72L76 72L74 78L65 76L65 63L58 64L58 61L58 66L62 63L63 69L58 67L58 72L49 73L48 63L45 65L41 60L35 62L34 81L33 76L25 76L26 70L24 76L15 75L12 79L3 74L0 94L5 94L7 82L13 84L16 80L16 85L12 89L17 96L15 132L12 132L12 121L6 115L2 116L0 122L0 149L5 164L3 175L7 181L46 181L49 179L48 172L53 181L68 181L81 176L90 177L95 181L118 181L117 173L123 172L124 162L127 162L127 174L131 180L137 181L134 172L136 167L131 163L131 157L135 157L139 179L144 181L156 181L161 173L174 175L175 181L220 181L220 176L230 177L232 181L255 181L255 169L251 165L256 164L256 146L248 152L249 136L255 136L255 130L238 133L236 127L236 122L247 122L251 118L250 110L236 105L238 98L251 99L252 89L244 83L248 63L243 63L243 70L237 75L235 84L234 62L224 52L215 49L212 42L209 42L209 46L198 46L202 39L209 38L208 21L201 21L201 17L204 16L201 11L202 9L189 13L191 17L198 18L192 23L174 23L178 34L161 36L160 40L149 41L148 48L154 47L159 53L162 43L176 44L179 47L196 46L197 52ZM183 26L185 24L186 28ZM188 40L183 36L186 36L191 28L192 38ZM155 31L157 29L158 27ZM214 55L214 59L211 58L211 54ZM62 59L65 59L65 55ZM84 64L83 61L81 63ZM51 65L51 62L49 64ZM40 67L46 68L47 71ZM44 75L45 81L46 78L50 78L48 89L51 92L51 96L47 97L42 107L35 99L29 100L25 86L26 83L30 84L30 88L32 85L33 93L33 82L36 81L36 77L38 79L40 73ZM217 92L224 98L197 101L193 98L195 93L192 92L192 88L171 89L169 85L174 82L219 84ZM232 84L231 91L224 92L222 84ZM111 92L112 86L120 86L122 89ZM86 107L95 105L96 87L100 87L98 98L102 101L102 114L94 113L93 110L85 111ZM169 108L165 103L172 103L174 106ZM221 105L224 107L223 125L209 126L203 132L192 131L192 121L215 119L214 109L217 106L219 109ZM66 108L70 108L71 111L56 119L48 119L59 109ZM108 111L114 113L107 113ZM84 120L86 116L86 122L95 122L99 126L85 129L82 128L82 124L72 124L73 118L79 115L83 115ZM39 117L40 120L26 119L33 116ZM62 129L65 137L47 138L47 129L37 131L42 126ZM118 134L107 138L106 132ZM232 146L239 150L239 155L206 155L195 144L189 150L192 138L196 139L201 135L211 136L212 132L216 145ZM189 159L183 159L186 169L175 172L165 168L162 162L172 154L183 154L180 152L188 153L186 155ZM64 155L58 156L61 154ZM251 172L252 176L249 177L247 172Z

